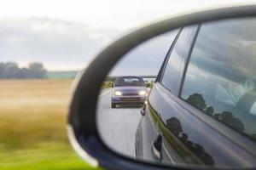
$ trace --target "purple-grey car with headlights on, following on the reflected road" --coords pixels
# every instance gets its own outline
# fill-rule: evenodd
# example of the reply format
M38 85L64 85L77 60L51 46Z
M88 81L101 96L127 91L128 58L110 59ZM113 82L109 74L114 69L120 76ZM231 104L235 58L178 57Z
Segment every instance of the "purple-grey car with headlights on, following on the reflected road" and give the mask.
M147 88L142 77L117 77L113 84L111 107L118 104L143 105Z

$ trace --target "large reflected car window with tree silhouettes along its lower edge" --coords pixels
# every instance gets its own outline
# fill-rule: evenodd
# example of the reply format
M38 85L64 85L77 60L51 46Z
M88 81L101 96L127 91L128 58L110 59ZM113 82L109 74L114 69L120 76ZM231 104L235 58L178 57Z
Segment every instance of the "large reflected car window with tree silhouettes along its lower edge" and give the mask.
M256 139L256 20L201 26L181 97Z

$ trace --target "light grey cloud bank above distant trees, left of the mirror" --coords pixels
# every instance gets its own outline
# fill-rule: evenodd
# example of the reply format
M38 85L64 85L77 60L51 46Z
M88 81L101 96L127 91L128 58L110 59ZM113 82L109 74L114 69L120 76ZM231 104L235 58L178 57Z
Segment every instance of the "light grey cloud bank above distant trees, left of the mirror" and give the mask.
M40 61L46 67L59 63L58 69L63 65L63 70L65 65L72 68L69 64L82 68L119 32L49 18L1 19L0 61L21 65Z

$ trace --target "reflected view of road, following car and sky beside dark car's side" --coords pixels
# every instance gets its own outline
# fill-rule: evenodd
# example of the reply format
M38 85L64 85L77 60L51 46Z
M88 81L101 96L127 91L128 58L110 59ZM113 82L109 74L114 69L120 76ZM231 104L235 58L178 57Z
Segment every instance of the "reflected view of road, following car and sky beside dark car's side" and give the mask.
M136 157L140 108L153 87L177 31L154 37L126 54L109 73L99 96L97 123L103 141L119 153Z

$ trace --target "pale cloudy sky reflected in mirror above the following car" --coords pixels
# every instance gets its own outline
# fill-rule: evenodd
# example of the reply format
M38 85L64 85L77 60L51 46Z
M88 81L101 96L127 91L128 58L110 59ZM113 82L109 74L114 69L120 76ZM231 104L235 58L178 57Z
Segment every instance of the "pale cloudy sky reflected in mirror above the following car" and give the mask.
M169 31L131 49L131 51L125 54L124 58L114 66L110 75L156 76L176 36L177 30Z

